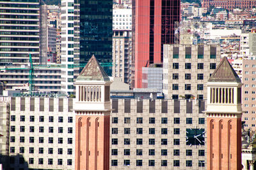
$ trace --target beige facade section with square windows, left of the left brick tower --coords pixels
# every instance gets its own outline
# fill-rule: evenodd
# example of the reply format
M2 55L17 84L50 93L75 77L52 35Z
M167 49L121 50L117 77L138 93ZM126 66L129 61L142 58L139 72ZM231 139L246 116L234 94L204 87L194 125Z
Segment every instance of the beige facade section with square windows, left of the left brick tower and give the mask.
M72 98L10 98L10 169L74 169Z

